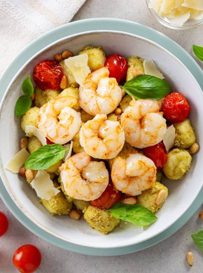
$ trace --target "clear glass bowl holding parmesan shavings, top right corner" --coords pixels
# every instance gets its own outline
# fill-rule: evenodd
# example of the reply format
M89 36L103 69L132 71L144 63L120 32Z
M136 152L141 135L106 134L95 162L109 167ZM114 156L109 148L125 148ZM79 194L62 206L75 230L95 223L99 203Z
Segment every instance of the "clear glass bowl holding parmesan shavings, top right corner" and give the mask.
M173 30L186 30L186 29L191 29L191 28L194 28L194 27L197 27L197 26L203 24L203 18L202 18L202 19L200 19L200 20L188 19L181 27L172 25L172 24L169 22L168 18L159 16L159 15L155 12L155 10L149 8L149 6L148 6L148 5L149 5L149 1L150 1L150 0L146 0L146 5L147 5L149 11L150 11L151 14L155 17L155 19L156 19L160 24L162 24L162 25L165 26L165 27L168 27L168 28L173 29Z

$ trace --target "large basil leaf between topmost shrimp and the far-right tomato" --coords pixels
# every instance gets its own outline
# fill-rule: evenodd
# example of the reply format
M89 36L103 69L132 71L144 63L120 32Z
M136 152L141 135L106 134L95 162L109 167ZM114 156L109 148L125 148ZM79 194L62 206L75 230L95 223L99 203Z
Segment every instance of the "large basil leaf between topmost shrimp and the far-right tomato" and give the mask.
M124 91L136 99L158 100L171 91L164 80L150 75L138 75L127 81L122 87Z

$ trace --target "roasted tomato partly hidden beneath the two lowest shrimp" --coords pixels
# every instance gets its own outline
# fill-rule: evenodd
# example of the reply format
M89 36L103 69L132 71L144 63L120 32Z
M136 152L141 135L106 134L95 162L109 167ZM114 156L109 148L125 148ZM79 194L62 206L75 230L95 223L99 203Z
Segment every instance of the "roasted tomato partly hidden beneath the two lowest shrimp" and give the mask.
M89 201L90 204L94 207L100 209L108 209L113 204L118 203L120 201L121 192L118 190L117 192L113 189L113 184L109 181L106 189L101 194L101 196L93 201Z

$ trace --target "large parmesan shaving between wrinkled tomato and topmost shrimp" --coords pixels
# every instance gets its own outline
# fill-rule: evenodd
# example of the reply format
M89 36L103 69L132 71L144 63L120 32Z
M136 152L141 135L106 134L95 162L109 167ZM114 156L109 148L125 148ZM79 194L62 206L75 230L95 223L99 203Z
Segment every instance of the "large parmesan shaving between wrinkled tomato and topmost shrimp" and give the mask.
M86 53L70 57L64 61L79 85L83 85L86 76L91 72L87 65L87 61L88 55Z

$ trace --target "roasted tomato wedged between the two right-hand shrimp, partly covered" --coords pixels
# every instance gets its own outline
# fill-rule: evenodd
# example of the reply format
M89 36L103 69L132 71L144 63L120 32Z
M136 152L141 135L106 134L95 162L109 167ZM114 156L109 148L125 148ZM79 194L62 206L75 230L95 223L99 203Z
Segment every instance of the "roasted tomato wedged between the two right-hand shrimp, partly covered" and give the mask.
M165 165L168 154L166 153L165 146L162 142L159 142L158 144L150 147L143 148L142 152L146 157L153 161L157 170Z

